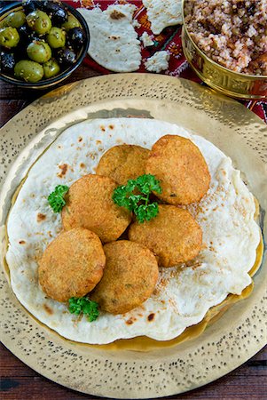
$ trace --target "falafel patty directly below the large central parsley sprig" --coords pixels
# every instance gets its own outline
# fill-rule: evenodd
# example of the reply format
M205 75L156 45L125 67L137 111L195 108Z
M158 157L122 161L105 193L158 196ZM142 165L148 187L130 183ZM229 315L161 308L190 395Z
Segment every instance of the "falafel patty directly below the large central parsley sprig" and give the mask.
M202 230L187 210L159 204L159 213L153 220L130 225L129 238L156 254L161 267L174 267L198 255Z

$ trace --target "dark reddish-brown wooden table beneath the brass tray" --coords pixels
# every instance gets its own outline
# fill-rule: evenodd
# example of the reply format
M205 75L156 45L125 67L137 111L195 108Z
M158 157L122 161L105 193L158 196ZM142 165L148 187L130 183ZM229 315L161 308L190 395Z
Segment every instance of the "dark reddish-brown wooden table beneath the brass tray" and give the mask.
M98 72L82 66L64 84L98 76ZM29 91L12 84L0 83L0 125L20 112L33 100L47 91ZM1 140L0 140L1 141ZM94 399L63 388L43 378L12 355L4 346L0 348L1 388L3 400L76 400ZM225 399L225 400L267 400L267 347L237 370L223 378L198 388L185 395L171 396L170 399Z

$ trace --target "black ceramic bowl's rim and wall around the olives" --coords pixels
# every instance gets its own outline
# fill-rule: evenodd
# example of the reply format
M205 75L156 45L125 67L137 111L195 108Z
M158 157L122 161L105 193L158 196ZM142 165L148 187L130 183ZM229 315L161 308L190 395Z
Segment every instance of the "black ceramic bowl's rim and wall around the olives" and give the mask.
M77 55L77 60L75 61L75 64L73 64L71 67L65 68L57 76L53 76L49 79L42 79L41 81L36 82L34 84L30 82L21 81L20 79L6 75L3 72L0 73L1 79L3 79L5 82L8 82L9 84L16 84L20 87L31 88L31 89L46 89L55 84L59 84L59 82L66 79L67 76L70 76L75 71L75 69L81 65L82 60L86 56L90 43L89 28L87 26L86 21L80 14L80 12L77 12L74 7L70 6L67 3L64 3L64 6L66 7L67 12L73 14L75 18L80 22L81 28L85 35L85 43L83 44L82 49ZM21 2L9 4L8 6L4 7L4 9L0 12L0 21L4 20L4 18L7 17L11 12L16 12L20 10L22 10Z

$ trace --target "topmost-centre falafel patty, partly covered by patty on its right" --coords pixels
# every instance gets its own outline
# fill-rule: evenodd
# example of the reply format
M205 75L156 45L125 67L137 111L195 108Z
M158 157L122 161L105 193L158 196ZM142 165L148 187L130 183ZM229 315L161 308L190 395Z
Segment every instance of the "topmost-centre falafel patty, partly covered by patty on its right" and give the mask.
M140 146L122 144L114 146L101 157L96 173L114 179L120 185L144 175L150 150Z

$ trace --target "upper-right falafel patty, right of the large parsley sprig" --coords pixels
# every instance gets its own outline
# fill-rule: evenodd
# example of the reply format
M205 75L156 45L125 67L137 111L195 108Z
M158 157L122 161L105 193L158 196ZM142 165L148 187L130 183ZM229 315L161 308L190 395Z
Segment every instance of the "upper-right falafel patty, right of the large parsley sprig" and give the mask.
M200 149L182 136L166 135L156 141L146 162L145 172L161 181L156 194L169 204L192 204L207 193L208 165Z

